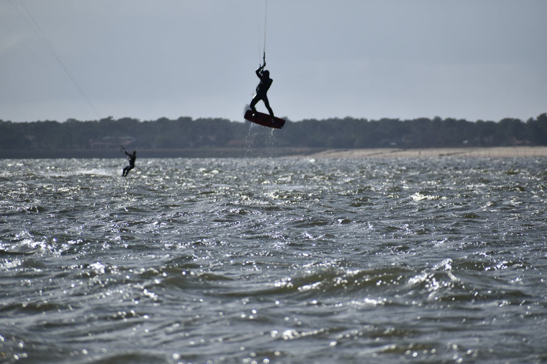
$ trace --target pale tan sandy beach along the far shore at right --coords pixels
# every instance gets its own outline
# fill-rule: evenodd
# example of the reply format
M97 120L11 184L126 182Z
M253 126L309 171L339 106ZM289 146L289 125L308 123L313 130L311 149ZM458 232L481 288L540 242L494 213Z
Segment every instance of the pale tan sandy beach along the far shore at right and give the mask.
M418 158L418 157L480 157L517 158L547 157L547 147L467 147L467 148L376 148L328 150L309 154L313 158Z

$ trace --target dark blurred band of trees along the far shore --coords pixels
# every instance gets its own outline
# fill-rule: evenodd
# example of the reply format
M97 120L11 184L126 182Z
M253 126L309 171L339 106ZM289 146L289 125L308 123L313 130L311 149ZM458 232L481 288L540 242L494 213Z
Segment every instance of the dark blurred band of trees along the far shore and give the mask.
M351 117L288 121L282 130L222 118L180 117L139 121L67 120L14 123L0 120L0 150L179 149L206 147L428 148L547 145L547 114L526 122Z

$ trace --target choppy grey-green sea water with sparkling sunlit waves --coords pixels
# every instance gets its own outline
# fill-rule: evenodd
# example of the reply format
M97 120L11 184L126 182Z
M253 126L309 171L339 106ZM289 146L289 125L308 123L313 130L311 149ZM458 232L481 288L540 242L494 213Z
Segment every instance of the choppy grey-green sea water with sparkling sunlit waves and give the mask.
M2 363L545 363L547 159L0 160Z

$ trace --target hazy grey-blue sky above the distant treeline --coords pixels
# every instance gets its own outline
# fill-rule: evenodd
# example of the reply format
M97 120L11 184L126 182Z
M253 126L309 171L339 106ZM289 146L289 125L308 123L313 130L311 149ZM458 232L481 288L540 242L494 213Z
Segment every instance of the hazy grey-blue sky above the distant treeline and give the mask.
M265 19L280 117L547 111L545 0L270 0L264 13L265 0L0 0L0 119L240 121Z

